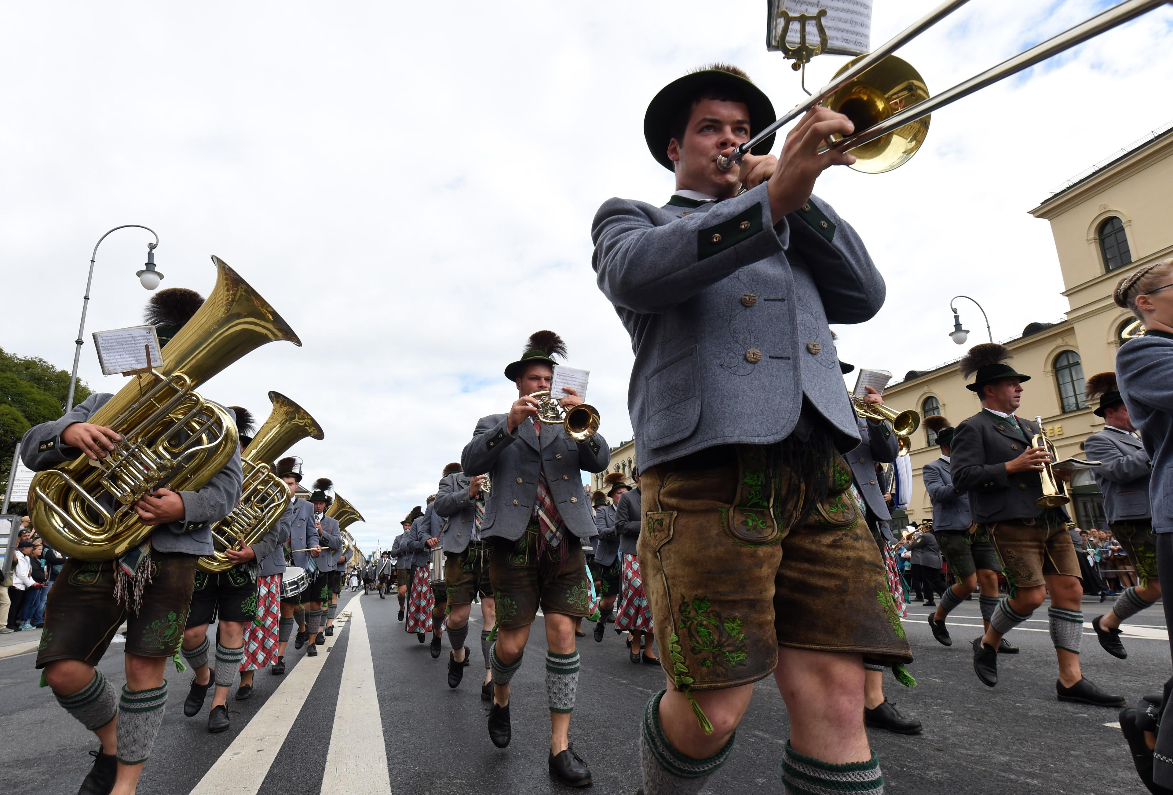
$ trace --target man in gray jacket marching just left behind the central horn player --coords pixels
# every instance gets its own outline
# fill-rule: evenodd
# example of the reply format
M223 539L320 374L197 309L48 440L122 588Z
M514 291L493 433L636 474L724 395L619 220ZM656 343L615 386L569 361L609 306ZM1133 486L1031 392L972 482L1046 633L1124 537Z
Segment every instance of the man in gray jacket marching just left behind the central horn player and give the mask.
M493 671L489 665L489 632L496 622L493 581L489 577L489 545L481 538L477 511L483 516L481 486L486 476L474 478L461 472L459 463L443 469L443 478L434 503L438 516L447 521L440 534L445 552L445 577L448 585L448 687L457 687L468 665L468 615L473 600L481 598L481 654L484 656L484 681L481 698L493 698Z

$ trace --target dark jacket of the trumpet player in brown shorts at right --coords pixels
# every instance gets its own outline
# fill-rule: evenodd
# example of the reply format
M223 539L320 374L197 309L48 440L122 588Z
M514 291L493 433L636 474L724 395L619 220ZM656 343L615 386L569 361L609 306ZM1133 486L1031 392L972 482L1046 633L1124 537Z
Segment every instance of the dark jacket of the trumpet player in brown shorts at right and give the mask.
M963 420L954 433L949 469L954 487L969 492L974 521L1016 521L1043 516L1043 508L1035 505L1043 496L1038 472L1006 474L1006 461L1022 456L1030 438L1038 433L1032 420L1017 419L1022 432L1009 419L983 409Z

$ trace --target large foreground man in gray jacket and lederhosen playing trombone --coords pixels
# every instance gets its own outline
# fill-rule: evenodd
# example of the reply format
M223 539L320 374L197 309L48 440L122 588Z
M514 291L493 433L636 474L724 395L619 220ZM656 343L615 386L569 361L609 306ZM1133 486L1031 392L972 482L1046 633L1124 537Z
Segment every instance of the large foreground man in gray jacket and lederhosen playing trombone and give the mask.
M771 672L791 719L786 786L881 791L861 656L910 660L891 602L877 599L883 561L843 494L840 451L860 438L828 326L873 317L884 284L855 231L811 196L823 169L854 162L819 153L852 123L815 108L777 160L758 156L771 136L718 168L773 120L735 67L673 81L644 134L676 194L664 207L608 200L594 222L598 285L636 351L643 582L660 638L678 639L640 733L647 795L699 791ZM812 592L832 571L840 592Z

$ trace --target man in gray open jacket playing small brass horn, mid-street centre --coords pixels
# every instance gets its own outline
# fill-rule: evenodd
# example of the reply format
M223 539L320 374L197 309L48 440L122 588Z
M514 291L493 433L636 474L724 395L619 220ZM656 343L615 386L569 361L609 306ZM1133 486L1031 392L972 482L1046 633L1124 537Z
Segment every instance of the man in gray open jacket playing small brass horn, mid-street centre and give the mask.
M582 539L595 534L583 494L582 472L602 472L610 449L602 436L574 442L563 424L542 426L537 400L549 390L554 356L565 357L562 338L552 331L530 336L521 358L506 378L518 397L502 415L482 417L461 456L470 476L489 474L491 492L484 505L481 535L489 540L489 564L496 591L496 642L489 647L494 694L489 739L509 745L509 680L521 667L530 625L541 606L545 617L545 692L550 706L550 772L571 787L591 783L590 768L570 747L570 713L578 686L576 617L588 615ZM582 403L574 390L563 409Z

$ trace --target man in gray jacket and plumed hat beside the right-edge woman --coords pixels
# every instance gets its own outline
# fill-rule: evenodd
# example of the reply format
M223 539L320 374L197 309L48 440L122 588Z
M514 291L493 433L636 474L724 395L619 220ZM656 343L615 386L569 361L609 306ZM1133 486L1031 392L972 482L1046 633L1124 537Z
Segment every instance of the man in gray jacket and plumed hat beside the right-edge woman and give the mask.
M1124 589L1112 606L1112 612L1092 619L1092 628L1100 646L1112 656L1128 656L1120 642L1120 622L1135 615L1161 598L1161 582L1157 572L1157 533L1148 499L1148 481L1153 461L1140 440L1137 429L1124 405L1114 372L1098 372L1087 379L1089 400L1099 398L1092 411L1104 418L1104 430L1084 440L1084 452L1090 461L1100 465L1092 470L1096 483L1104 492L1104 512L1108 527L1120 543L1128 562L1137 572L1140 585ZM1173 384L1169 385L1173 389Z

